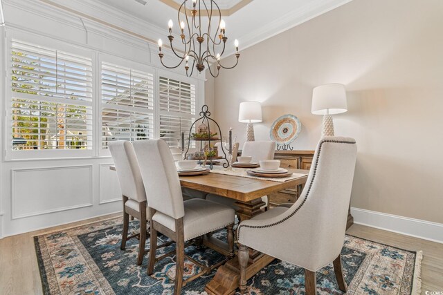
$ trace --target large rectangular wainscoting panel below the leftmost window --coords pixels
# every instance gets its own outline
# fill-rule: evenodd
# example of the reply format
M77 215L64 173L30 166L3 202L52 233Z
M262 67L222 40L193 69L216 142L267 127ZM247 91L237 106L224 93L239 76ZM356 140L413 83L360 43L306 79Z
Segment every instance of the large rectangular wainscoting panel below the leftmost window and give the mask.
M92 165L11 171L12 219L92 206Z

